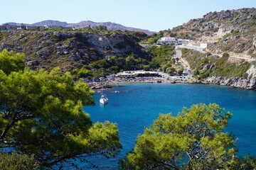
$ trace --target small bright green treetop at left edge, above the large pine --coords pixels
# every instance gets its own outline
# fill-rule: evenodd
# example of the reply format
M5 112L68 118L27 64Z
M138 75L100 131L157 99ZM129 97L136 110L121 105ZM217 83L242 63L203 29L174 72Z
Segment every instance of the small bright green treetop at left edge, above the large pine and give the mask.
M21 53L3 50L0 52L0 69L6 74L22 71L26 66L24 57Z

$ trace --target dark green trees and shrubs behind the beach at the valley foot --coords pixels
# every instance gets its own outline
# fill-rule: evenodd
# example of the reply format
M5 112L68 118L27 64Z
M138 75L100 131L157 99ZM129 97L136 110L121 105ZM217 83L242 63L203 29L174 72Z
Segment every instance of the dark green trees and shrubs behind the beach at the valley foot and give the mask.
M134 53L127 57L111 56L107 59L98 60L91 64L85 65L82 69L75 69L73 73L77 75L77 78L92 79L95 77L101 77L102 72L105 74L115 74L117 72L127 70L144 69L146 71L154 69L171 69L175 64L173 56L175 54L174 45L161 45L161 47L151 46L147 49L150 53L150 60L145 60L141 57L137 57ZM175 69L171 69L169 72L174 73Z

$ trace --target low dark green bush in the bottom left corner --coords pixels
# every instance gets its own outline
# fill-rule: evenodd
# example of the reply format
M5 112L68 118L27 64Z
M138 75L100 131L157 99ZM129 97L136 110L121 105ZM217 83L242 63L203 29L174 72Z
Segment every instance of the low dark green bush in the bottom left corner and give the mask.
M11 154L0 152L0 169L1 170L30 170L38 169L40 163L33 157L26 154Z

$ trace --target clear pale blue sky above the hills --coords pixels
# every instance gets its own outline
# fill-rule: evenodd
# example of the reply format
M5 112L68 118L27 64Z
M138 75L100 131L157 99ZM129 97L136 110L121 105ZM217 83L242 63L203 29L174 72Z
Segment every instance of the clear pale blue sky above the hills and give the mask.
M212 11L255 8L256 0L0 0L0 23L113 22L159 31Z

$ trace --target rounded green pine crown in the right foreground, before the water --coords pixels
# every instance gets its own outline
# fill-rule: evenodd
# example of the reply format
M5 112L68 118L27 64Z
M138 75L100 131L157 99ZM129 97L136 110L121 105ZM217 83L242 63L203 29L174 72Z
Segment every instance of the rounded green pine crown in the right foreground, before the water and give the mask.
M214 103L183 108L176 117L161 114L138 136L122 169L230 169L241 164L235 159L235 137L223 132L231 115Z

